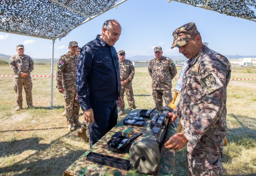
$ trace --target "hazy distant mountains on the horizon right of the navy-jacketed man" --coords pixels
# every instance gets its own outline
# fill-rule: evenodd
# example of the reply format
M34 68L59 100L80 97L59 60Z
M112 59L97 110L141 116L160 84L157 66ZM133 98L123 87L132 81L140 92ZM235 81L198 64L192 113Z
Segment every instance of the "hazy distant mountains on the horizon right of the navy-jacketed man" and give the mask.
M172 60L184 60L185 57L183 55L164 55L166 57L171 58ZM256 56L243 56L243 55L225 55L228 59L242 59L244 57L253 57L256 58ZM127 59L131 61L150 61L151 59L155 58L154 55L147 56L147 55L135 55L132 57L126 57Z

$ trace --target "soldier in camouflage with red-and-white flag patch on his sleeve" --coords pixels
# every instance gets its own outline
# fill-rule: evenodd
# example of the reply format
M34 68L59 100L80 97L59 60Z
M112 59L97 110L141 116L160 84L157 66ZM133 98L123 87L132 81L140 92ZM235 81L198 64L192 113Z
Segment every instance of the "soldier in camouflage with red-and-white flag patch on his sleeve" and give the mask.
M76 91L76 67L78 62L78 55L76 54L78 44L77 42L69 43L69 52L62 55L57 66L57 88L60 93L64 93L66 118L68 123L68 130L74 131L74 125L81 127L79 120L80 105L75 97Z

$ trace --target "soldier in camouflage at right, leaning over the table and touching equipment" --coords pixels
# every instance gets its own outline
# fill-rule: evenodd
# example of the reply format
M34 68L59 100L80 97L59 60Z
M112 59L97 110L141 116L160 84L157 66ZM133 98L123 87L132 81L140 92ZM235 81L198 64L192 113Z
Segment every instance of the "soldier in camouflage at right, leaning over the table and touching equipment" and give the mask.
M187 145L189 175L222 175L224 139L227 135L227 85L231 76L228 59L202 43L195 23L173 32L173 47L188 60L180 101L171 122L182 117L184 132L170 137L166 148Z

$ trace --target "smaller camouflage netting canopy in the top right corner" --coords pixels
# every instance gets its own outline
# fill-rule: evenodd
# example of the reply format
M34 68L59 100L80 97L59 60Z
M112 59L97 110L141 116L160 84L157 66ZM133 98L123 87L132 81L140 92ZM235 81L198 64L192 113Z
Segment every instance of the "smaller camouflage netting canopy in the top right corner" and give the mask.
M171 2L172 0L168 0ZM173 0L256 22L255 0Z

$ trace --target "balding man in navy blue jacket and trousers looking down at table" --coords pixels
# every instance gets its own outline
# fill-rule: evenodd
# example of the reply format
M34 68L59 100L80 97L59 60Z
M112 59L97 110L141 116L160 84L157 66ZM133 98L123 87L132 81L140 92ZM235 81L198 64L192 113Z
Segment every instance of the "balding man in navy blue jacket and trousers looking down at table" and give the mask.
M115 45L122 28L107 20L102 34L82 47L77 64L78 101L85 121L90 123L90 146L117 124L117 107L122 105L119 62ZM86 124L76 133L87 140Z

